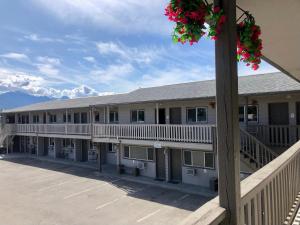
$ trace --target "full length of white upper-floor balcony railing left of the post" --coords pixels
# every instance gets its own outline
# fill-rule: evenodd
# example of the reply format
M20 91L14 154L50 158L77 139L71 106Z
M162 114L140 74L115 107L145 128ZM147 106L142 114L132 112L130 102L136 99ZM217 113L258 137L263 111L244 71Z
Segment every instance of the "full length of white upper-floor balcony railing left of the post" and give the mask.
M183 143L213 143L213 125L170 124L7 124L11 134L85 136Z

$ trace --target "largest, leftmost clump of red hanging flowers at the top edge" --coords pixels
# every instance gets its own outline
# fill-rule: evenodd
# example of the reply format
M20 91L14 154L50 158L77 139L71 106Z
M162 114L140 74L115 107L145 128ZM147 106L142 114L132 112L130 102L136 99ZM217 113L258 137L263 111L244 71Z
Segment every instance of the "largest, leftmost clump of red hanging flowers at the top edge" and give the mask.
M170 21L176 22L173 41L191 45L205 34L205 18L209 15L208 5L202 0L171 0L165 9Z

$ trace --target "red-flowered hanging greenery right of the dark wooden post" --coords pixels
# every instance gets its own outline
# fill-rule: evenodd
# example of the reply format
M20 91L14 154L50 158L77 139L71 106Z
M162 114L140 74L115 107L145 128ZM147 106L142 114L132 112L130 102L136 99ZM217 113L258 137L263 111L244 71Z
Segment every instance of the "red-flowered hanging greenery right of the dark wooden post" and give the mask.
M253 70L257 70L261 63L260 35L260 27L255 24L254 17L247 14L247 17L237 26L237 59L251 66Z

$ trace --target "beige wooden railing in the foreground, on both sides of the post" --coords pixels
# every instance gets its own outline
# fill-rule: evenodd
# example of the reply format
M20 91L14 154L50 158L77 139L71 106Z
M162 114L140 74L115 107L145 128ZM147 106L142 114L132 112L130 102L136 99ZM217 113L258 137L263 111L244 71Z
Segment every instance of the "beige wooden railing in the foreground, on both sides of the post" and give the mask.
M292 224L300 200L300 141L241 182L241 225ZM219 225L226 210L218 198L192 213L184 225Z

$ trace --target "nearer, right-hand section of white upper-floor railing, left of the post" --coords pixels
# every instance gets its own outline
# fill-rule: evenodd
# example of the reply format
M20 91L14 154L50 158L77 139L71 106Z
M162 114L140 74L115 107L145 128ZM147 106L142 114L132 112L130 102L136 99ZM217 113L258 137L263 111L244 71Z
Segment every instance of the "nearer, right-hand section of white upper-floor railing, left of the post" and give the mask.
M170 124L94 124L98 138L159 140L190 143L212 143L212 125Z

